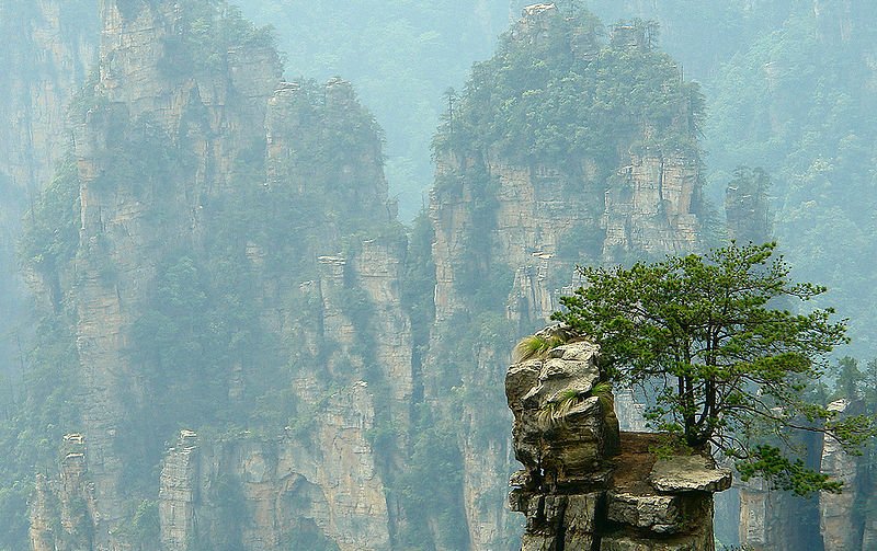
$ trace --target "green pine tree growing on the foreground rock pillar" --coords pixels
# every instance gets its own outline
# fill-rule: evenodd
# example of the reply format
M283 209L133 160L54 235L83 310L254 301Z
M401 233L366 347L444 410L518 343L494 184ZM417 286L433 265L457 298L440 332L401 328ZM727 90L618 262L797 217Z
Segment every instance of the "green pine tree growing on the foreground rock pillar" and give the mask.
M720 450L744 480L761 475L798 494L841 484L795 459L796 431L824 433L854 451L873 420L840 420L805 398L827 355L846 342L832 309L782 309L825 291L794 283L775 243L668 257L630 268L582 267L585 286L555 319L601 345L620 384L653 390L650 425L687 446Z

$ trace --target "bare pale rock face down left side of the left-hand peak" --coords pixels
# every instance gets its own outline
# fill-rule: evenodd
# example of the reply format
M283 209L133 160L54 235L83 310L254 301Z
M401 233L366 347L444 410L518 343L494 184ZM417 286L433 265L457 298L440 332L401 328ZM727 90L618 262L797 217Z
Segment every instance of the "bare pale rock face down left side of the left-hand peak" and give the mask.
M122 5L128 7L125 13ZM196 246L204 223L200 206L225 187L227 162L241 142L263 134L251 113L261 104L264 116L280 80L276 59L259 50L243 62L229 56L221 71L169 78L161 67L183 32L178 10L170 2L102 5L101 76L94 89L100 103L76 128L81 230L72 299L89 404L83 410L89 472L100 496L96 549L117 546L111 535L126 508L125 459L117 449L129 431L121 424L132 415L129 400L141 401L141 392L151 390L132 389L129 381L138 376L127 353L149 282L162 250ZM244 77L243 90L236 77ZM253 105L238 108L248 103ZM194 112L201 112L201 125L187 127L185 118ZM163 165L133 158L156 153ZM193 162L174 162L182 154ZM160 229L158 211L167 216Z

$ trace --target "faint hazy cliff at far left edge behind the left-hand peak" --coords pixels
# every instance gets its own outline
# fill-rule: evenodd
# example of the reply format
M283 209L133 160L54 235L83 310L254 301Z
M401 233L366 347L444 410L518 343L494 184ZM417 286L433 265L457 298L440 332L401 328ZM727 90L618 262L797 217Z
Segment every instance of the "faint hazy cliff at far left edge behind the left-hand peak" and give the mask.
M91 2L39 0L0 2L0 355L14 357L13 313L25 313L24 286L16 277L14 245L21 220L52 180L70 144L67 106L96 57L98 13ZM8 359L3 365L16 365Z

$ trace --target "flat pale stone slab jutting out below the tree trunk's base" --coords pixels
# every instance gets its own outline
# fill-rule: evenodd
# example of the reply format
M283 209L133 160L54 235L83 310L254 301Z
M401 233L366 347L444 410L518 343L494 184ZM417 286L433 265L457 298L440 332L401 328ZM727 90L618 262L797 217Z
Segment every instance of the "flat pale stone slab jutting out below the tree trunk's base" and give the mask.
M731 471L716 469L711 458L673 456L659 459L649 483L659 492L721 492L731 487Z

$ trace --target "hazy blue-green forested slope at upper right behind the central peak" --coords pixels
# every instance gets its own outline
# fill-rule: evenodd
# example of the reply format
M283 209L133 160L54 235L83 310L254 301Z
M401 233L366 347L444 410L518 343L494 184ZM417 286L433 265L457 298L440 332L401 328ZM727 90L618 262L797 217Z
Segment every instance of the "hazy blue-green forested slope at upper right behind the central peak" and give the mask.
M825 0L815 10L791 0L589 0L588 7L607 21L661 24L662 44L709 99L703 147L710 198L721 199L738 167L762 167L772 180L773 236L796 277L831 288L831 303L851 319L848 353L873 355L877 285L865 259L877 254L877 111L868 65L876 32L867 22L877 4Z

